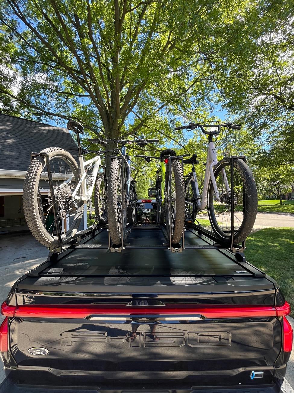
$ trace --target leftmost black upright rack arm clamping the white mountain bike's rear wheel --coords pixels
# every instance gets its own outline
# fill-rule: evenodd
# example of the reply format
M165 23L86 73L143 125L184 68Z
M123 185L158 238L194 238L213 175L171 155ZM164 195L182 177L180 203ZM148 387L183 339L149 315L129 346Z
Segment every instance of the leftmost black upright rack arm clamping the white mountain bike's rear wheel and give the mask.
M57 208L57 201L54 194L54 187L53 187L53 180L52 180L52 172L50 167L50 160L49 154L47 153L31 153L31 160L35 157L45 157L46 167L47 167L47 174L48 174L48 181L50 187L50 193L52 198L52 208L53 208L53 215L54 215L54 224L56 229L57 239L54 240L52 245L50 246L50 252L61 252L63 250L63 241L62 241L62 230L60 226L60 221L58 220L58 208Z

